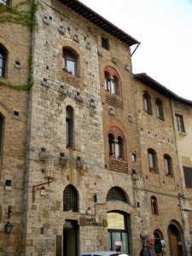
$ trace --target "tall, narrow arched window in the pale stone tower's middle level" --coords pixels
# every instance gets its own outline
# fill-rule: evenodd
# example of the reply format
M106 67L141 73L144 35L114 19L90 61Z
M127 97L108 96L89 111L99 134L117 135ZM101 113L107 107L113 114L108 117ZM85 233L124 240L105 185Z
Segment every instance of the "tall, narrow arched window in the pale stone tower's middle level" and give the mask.
M66 108L66 147L73 148L73 108Z

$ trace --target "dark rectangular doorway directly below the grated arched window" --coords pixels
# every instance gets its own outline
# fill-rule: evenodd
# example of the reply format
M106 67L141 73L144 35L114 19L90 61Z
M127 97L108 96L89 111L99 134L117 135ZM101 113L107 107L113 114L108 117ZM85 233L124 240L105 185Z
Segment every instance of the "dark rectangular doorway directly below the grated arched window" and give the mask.
M78 234L78 222L66 220L63 229L63 255L78 256Z

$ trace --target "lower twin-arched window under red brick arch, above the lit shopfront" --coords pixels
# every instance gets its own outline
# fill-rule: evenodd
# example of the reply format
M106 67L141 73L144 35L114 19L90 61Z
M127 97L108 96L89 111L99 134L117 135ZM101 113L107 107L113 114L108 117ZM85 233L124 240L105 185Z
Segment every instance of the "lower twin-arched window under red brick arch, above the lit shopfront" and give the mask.
M117 140L114 140L113 134L108 134L108 147L109 147L109 157L118 159L124 158L124 143L122 137L117 137Z

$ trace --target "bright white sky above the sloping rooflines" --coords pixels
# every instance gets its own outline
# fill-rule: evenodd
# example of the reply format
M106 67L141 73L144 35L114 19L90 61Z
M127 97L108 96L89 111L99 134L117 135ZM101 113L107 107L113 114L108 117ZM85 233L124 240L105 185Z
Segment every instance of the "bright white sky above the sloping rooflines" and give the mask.
M79 1L141 43L133 73L192 101L192 0Z

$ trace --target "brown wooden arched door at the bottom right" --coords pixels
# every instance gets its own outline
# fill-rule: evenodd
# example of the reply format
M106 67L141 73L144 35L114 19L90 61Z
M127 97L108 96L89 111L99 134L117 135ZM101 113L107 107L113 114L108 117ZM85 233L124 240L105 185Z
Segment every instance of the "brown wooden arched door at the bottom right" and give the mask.
M170 256L183 256L181 233L175 222L172 222L168 226L168 239Z

